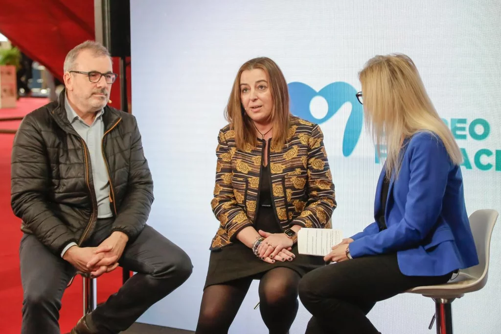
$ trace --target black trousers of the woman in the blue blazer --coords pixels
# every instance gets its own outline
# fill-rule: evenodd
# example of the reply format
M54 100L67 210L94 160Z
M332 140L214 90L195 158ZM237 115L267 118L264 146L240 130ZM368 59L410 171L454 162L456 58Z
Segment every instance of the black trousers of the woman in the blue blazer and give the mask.
M447 282L444 276L405 276L396 254L333 263L306 274L299 297L313 315L306 334L376 334L366 317L377 301L410 288Z

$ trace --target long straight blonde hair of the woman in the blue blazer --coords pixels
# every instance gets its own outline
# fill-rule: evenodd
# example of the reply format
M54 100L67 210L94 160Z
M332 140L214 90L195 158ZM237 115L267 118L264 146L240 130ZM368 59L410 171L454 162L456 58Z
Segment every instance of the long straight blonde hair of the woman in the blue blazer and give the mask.
M386 175L400 171L402 136L426 131L438 136L451 161L459 165L462 154L447 125L431 103L414 62L392 54L370 59L359 73L364 114L378 154L386 145Z

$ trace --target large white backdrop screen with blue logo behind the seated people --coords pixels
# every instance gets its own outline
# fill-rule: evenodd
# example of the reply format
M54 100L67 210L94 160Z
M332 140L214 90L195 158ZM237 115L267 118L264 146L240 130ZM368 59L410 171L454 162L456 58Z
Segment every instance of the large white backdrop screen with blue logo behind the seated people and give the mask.
M149 224L191 257L192 276L140 321L193 330L218 222L210 200L218 129L239 66L268 56L281 67L296 115L320 124L336 187L333 227L350 236L373 221L381 164L363 125L358 72L377 54L416 63L464 155L468 214L501 212L501 5L497 0L131 1L132 101L154 179ZM488 283L453 302L458 334L499 333L501 232ZM370 277L367 277L370 279ZM257 282L231 333L264 333ZM387 334L429 333L434 304L400 295L369 313ZM301 305L291 333L304 333Z

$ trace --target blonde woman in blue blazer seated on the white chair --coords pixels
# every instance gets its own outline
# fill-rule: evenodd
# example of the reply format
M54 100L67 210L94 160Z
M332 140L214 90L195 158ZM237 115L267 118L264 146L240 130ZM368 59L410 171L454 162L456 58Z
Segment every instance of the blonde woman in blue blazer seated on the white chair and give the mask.
M412 60L377 56L359 75L368 127L387 158L375 222L325 256L337 262L300 282L312 313L306 332L378 333L366 314L412 287L447 282L478 263L466 214L461 152L435 111Z

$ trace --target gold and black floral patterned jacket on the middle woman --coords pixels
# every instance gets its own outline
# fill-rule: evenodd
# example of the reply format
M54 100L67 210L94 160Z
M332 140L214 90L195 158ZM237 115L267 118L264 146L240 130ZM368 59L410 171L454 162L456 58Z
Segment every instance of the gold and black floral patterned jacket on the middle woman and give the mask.
M210 249L235 241L240 230L256 219L265 140L245 150L236 147L229 124L219 130L212 211L220 222ZM336 208L332 175L322 130L317 124L291 116L286 143L271 144L268 152L273 207L282 229L293 225L331 228Z

